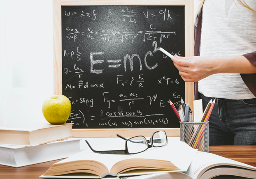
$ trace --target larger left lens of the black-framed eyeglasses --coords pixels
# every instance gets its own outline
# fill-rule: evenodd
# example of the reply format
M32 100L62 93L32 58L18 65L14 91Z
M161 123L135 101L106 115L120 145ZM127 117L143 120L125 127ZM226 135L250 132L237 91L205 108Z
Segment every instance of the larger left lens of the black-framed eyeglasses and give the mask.
M130 138L127 141L127 149L130 154L135 154L144 151L148 148L147 140L144 137L138 136Z

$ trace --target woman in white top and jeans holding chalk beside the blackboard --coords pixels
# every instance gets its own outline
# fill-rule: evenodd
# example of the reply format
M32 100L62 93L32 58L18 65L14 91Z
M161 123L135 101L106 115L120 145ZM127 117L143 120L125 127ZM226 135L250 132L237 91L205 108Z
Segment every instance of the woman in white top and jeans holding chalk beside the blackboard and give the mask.
M195 56L175 56L174 65L184 81L196 82L203 108L216 98L209 145L256 145L256 2L200 2Z

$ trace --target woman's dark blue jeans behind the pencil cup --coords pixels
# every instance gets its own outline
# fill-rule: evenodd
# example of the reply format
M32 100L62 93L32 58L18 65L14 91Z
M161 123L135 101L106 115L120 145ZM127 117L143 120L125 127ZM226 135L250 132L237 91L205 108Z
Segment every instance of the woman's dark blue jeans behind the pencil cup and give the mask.
M205 110L214 98L199 95ZM216 98L209 117L209 145L256 145L256 98Z

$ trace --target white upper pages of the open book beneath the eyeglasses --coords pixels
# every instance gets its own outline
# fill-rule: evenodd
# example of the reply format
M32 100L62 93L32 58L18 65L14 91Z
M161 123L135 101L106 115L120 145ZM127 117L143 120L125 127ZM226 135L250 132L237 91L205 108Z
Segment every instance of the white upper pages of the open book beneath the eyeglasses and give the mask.
M110 145L113 149L114 145L116 144ZM98 154L91 151L91 149L86 149L78 154L75 154L74 156L64 159L63 161L57 162L56 164L70 161L92 160L103 163L110 171L112 166L119 161L131 158L147 158L153 160L171 161L175 166L177 166L177 168L181 169L182 171L186 171L189 168L196 151L197 149L189 147L189 145L186 145L184 142L170 141L168 145L164 147L153 147L142 153L133 155Z

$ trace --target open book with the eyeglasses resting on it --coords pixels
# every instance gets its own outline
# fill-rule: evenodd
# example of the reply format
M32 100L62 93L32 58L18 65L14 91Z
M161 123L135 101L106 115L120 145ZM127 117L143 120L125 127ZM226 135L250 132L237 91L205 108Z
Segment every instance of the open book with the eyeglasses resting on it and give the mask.
M100 178L163 172L184 172L196 154L184 142L171 141L133 155L98 154L86 149L57 162L40 176L45 178Z

